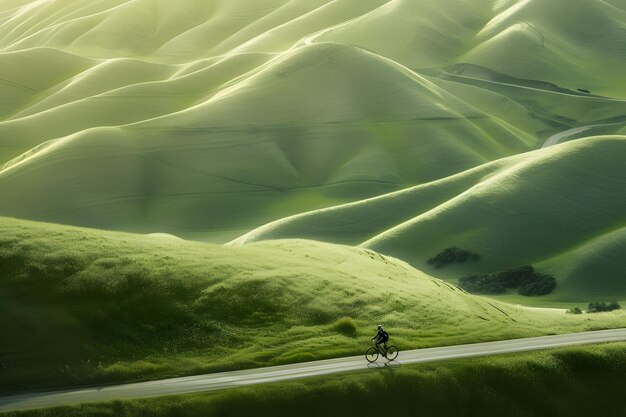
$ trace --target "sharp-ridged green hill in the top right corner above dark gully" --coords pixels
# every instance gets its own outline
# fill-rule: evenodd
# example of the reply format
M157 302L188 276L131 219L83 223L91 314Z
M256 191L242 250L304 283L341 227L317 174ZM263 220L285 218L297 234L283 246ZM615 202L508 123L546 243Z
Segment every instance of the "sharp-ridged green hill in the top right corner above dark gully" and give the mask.
M625 97L624 10L595 0L508 3L458 62Z

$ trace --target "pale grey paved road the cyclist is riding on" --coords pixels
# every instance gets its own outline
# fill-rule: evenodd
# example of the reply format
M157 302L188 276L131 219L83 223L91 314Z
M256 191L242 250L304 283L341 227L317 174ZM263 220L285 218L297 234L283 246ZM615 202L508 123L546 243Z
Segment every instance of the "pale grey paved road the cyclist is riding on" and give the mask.
M364 356L354 356L349 358L329 359L316 362L297 363L293 365L273 366L269 368L250 369L246 371L223 372L185 378L173 378L102 388L24 394L0 398L0 413L86 402L214 391L236 388L245 385L287 381L345 372L365 371L368 368L383 368L385 366L394 367L411 363L468 358L473 356L497 355L559 346L615 341L626 341L626 329L601 330L559 336L533 337L528 339L411 350L400 352L398 359L390 364L385 364L386 361L382 361L380 359L376 364L368 364L365 361Z

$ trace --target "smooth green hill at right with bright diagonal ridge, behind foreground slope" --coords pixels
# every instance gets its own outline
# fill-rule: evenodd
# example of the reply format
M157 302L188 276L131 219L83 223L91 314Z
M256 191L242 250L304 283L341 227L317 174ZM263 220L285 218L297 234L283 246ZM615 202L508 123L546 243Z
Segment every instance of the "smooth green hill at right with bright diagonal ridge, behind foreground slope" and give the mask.
M623 299L624 265L616 254L626 221L625 158L623 136L568 142L286 218L233 244L299 236L362 245L448 278L541 264L560 279L555 300ZM479 253L481 261L440 270L427 263L450 246Z

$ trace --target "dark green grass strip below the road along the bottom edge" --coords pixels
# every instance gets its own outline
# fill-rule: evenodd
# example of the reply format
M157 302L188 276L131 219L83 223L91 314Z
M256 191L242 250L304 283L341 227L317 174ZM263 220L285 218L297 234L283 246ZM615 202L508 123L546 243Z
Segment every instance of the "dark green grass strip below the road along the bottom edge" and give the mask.
M615 343L6 416L624 416L624 372L626 344Z

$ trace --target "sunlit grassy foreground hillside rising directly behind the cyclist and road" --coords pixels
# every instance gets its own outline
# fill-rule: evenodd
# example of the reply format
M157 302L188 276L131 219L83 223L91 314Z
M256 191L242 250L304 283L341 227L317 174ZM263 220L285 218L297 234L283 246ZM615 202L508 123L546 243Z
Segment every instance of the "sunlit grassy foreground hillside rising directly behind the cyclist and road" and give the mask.
M242 248L0 219L0 391L619 327L472 296L365 249Z

